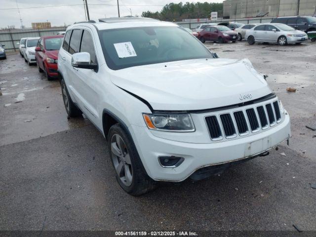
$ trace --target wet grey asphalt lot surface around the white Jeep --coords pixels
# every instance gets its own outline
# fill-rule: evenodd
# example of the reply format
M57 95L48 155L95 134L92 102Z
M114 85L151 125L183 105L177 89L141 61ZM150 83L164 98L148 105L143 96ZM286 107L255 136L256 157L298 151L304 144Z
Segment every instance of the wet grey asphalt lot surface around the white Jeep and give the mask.
M59 82L8 55L0 60L0 230L316 231L316 132L305 127L316 124L316 43L206 45L269 75L291 116L289 147L221 176L131 197L98 130L67 119Z

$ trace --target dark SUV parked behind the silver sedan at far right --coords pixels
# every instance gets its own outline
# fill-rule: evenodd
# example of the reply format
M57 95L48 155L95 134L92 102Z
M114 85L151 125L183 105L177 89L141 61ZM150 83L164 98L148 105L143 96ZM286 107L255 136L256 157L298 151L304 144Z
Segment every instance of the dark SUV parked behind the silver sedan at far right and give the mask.
M282 23L299 31L316 31L316 17L314 16L288 16L277 17L271 23Z

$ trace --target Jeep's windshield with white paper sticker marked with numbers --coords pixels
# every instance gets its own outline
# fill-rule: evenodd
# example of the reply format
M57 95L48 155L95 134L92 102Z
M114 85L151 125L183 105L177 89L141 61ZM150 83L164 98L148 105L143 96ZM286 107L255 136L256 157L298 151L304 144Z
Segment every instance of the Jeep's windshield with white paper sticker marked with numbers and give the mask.
M137 27L99 32L106 63L113 70L162 62L212 58L181 27Z

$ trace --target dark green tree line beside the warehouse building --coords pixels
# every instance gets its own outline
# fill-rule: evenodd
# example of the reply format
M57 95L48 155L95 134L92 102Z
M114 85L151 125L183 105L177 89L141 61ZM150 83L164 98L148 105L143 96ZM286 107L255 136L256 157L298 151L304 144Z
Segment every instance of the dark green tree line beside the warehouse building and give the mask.
M182 19L210 18L212 11L217 11L218 17L222 17L223 3L169 3L163 6L160 12L144 11L142 16L162 21L182 21Z

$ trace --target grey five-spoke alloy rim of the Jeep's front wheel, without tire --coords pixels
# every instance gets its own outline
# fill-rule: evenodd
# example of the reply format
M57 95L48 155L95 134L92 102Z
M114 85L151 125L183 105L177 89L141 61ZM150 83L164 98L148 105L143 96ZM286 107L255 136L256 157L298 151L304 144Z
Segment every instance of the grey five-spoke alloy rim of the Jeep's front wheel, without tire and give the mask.
M117 133L111 138L111 153L119 179L125 186L130 186L133 181L132 164L125 142Z

